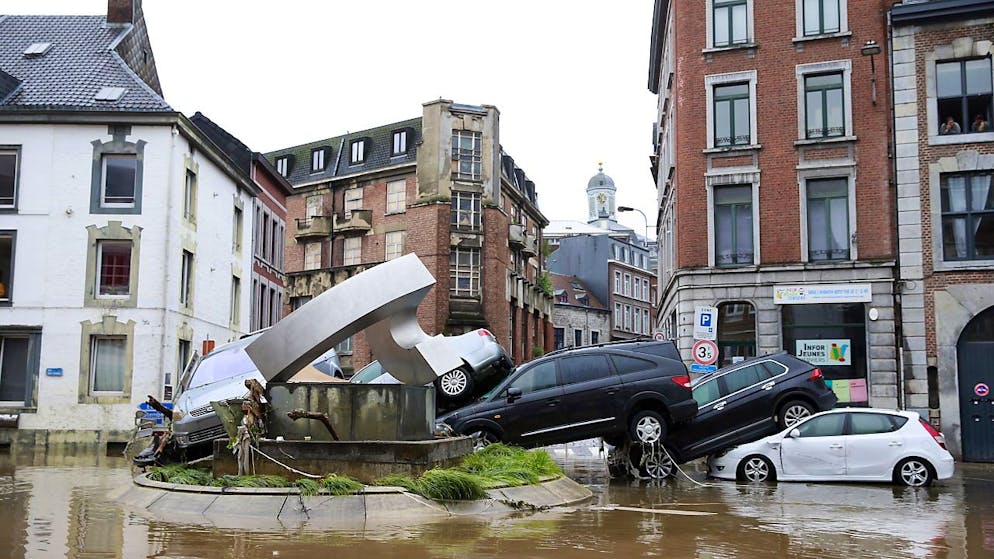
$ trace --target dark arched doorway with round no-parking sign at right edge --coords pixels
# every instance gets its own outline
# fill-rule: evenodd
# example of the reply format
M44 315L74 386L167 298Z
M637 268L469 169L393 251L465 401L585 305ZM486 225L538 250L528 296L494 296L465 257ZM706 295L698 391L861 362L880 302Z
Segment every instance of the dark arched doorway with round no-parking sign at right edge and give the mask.
M966 325L956 354L963 460L994 462L994 307Z

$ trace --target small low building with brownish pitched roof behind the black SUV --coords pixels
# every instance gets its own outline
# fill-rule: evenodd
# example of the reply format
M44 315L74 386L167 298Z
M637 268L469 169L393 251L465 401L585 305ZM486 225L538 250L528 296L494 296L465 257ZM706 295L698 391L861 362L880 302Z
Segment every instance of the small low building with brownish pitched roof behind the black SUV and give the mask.
M580 278L549 274L555 305L552 307L552 349L596 345L608 341L611 313Z

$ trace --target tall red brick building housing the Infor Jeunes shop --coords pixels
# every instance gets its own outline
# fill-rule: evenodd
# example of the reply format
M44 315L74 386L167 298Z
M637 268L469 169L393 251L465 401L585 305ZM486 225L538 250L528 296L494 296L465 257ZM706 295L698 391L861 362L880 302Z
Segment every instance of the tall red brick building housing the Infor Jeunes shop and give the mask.
M686 358L714 305L722 363L802 352L840 402L897 406L888 7L656 1L656 316Z

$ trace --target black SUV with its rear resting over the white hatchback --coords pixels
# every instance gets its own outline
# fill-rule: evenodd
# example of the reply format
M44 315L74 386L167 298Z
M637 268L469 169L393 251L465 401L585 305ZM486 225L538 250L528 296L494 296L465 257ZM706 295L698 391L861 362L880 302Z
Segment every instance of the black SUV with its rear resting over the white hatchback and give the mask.
M666 441L677 462L771 435L837 401L821 369L787 352L704 375L694 380L693 393L700 411Z

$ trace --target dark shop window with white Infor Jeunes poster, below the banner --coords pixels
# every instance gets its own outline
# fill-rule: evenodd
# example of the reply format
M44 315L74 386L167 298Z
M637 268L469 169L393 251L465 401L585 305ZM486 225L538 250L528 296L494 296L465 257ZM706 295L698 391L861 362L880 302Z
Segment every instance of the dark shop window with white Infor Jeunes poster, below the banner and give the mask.
M839 405L866 405L864 305L783 305L781 315L784 349L822 370Z

